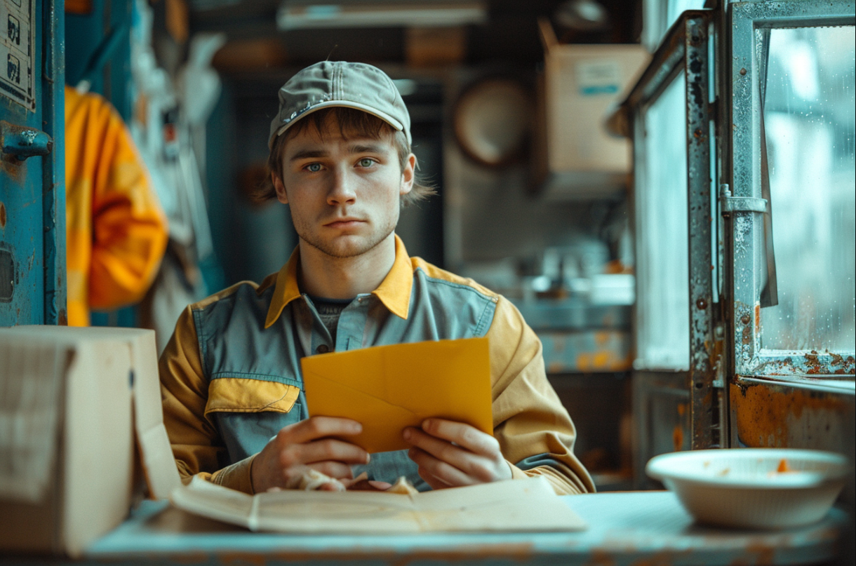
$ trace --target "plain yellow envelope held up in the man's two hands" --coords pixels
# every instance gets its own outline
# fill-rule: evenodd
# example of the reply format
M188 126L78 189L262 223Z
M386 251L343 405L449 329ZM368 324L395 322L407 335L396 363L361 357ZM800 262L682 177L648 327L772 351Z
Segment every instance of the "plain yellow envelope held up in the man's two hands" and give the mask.
M300 360L309 414L347 417L370 453L410 447L401 431L428 417L493 434L487 338L375 346Z

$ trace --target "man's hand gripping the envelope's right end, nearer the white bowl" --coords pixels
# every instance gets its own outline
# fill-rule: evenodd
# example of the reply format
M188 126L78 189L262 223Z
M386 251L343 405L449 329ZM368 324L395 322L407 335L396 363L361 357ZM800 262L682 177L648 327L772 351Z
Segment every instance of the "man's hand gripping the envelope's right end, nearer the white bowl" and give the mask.
M413 444L407 456L419 465L419 476L433 489L511 479L511 468L496 438L474 426L426 419L421 430L408 426L403 435Z

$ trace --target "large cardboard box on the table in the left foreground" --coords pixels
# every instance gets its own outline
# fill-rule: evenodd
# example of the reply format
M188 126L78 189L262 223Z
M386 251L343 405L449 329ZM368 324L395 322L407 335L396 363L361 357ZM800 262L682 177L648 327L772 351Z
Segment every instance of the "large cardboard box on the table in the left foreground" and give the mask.
M0 329L0 550L80 557L131 506L134 430L153 497L180 485L154 332Z

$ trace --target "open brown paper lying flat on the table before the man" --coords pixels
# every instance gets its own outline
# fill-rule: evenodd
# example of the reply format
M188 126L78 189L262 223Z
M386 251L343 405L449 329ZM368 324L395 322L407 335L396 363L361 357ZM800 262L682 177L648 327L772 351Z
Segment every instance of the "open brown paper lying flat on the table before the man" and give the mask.
M544 478L507 480L404 495L303 492L254 496L193 478L172 492L179 509L253 531L282 533L429 533L576 531L580 516Z

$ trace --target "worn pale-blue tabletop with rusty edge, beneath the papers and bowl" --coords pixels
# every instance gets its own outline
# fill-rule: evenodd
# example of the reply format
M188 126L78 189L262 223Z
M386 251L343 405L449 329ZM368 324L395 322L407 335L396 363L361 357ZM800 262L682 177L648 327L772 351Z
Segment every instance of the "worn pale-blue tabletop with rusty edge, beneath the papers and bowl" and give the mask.
M823 521L783 531L701 527L693 524L671 492L610 492L563 499L588 523L586 531L396 536L251 533L188 515L165 502L146 501L120 527L90 545L83 562L255 566L823 563L834 559L847 525L847 514L831 509Z

